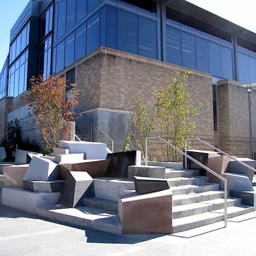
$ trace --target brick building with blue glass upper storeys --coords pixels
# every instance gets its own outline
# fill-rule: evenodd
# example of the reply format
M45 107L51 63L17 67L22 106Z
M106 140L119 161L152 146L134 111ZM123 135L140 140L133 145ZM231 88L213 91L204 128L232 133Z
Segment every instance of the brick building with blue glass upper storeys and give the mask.
M250 156L241 84L256 82L256 34L185 0L30 0L11 30L0 73L0 136L17 117L22 136L37 139L20 94L32 75L65 75L81 89L79 110L120 150L132 97L141 93L154 105L152 87L163 86L175 70L192 70L192 104L203 103L194 134ZM252 101L254 110L254 90ZM77 125L90 133L84 120Z

